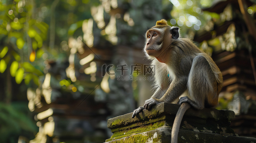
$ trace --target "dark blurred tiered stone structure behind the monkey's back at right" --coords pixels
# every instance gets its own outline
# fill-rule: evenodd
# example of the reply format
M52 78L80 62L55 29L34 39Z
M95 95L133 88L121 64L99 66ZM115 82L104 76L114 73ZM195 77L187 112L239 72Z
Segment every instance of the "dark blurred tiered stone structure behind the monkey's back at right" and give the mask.
M253 6L249 0L215 1L204 11L217 13L220 19L212 18L194 41L202 43L205 51L213 49L213 60L222 71L224 88L219 94L218 109L235 112L230 127L239 136L256 137L256 40L250 31L255 28L255 14L241 10L249 6Z

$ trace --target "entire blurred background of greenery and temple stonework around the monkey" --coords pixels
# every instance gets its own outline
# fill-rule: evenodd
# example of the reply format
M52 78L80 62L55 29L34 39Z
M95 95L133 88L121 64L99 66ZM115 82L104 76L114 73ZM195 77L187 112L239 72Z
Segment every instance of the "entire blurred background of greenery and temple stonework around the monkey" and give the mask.
M218 61L225 88L217 108L237 115L248 114L251 107L255 111L255 4L1 0L0 142L98 143L110 138L107 119L132 112L152 95L152 81L136 80L143 73L131 66L150 64L142 53L143 36L162 18ZM223 55L232 53L247 58L221 65ZM226 69L239 61L249 72L237 72L239 64ZM241 80L233 82L233 76ZM254 137L255 131L242 135Z

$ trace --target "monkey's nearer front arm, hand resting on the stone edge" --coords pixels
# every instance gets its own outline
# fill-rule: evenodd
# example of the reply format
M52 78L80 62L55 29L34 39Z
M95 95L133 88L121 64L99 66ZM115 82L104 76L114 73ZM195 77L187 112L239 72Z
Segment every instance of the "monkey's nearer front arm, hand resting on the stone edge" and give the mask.
M167 89L166 93L160 99L156 99L152 96L150 99L145 101L143 107L145 109L150 109L153 105L161 102L173 102L186 90L186 84L186 76L175 77L175 79L171 82L169 88Z

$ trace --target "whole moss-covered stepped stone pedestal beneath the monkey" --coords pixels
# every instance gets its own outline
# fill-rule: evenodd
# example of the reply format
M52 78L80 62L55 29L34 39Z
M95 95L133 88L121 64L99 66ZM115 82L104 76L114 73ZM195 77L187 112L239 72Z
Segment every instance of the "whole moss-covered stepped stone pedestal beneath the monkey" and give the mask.
M132 113L108 120L113 135L108 143L170 143L171 128L180 105L160 103L151 110L143 110L136 117ZM178 142L256 143L255 138L239 137L229 127L235 115L230 110L205 108L188 109L183 117Z

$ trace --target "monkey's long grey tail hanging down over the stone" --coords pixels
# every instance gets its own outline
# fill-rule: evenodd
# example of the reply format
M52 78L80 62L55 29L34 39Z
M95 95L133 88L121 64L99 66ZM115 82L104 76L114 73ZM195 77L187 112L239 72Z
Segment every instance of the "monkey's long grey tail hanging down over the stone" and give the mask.
M183 118L183 115L185 114L185 112L187 111L187 109L190 108L190 104L184 102L181 104L176 117L174 119L173 122L173 126L172 126L172 134L171 134L171 143L177 143L178 142L178 133L179 133L179 129L180 129L180 125L181 125L181 120Z

